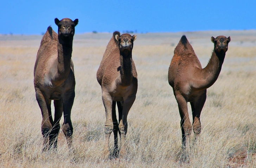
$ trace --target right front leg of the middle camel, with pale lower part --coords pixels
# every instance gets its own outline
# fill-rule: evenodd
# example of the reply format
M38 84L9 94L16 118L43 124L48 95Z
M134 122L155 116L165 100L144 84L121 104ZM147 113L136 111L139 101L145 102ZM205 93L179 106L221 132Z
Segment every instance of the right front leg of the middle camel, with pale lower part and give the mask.
M121 119L119 119L120 120L119 131L120 131L120 139L121 139L121 149L119 153L120 157L123 157L126 153L125 138L126 138L127 127L128 127L127 115L135 101L135 98L136 98L135 96L128 97L127 99L124 99L124 102L123 102L123 111L122 111Z

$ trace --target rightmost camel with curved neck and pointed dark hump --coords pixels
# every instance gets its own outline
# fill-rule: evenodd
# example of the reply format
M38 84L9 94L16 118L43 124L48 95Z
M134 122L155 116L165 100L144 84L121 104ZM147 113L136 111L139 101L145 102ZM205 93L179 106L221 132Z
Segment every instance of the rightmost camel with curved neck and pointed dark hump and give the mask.
M194 53L194 50L183 35L174 49L174 55L168 70L168 82L173 88L181 117L182 146L189 146L192 126L188 116L187 102L190 102L193 115L195 139L201 133L200 114L206 100L206 89L217 80L224 62L230 37L211 37L214 43L212 56L205 68ZM187 141L186 141L187 140Z

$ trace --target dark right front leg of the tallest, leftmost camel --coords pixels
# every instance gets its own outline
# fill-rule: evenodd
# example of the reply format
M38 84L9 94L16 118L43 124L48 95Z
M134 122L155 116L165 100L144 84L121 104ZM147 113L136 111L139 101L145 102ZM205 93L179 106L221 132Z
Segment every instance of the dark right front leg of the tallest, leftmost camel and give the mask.
M75 89L75 88L74 88ZM72 135L73 135L73 126L71 122L71 109L73 106L73 102L75 99L75 90L70 90L66 92L63 96L63 115L64 115L64 122L63 122L63 133L66 136L68 141L69 149L72 146Z

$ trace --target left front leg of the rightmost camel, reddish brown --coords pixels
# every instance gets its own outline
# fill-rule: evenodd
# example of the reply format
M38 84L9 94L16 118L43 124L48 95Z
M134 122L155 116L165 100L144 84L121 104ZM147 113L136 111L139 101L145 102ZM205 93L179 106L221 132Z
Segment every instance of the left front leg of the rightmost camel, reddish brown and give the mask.
M175 98L178 103L179 113L181 118L180 127L182 132L182 146L188 147L190 134L192 132L192 125L188 116L187 100L181 94L176 93L175 95L176 95Z

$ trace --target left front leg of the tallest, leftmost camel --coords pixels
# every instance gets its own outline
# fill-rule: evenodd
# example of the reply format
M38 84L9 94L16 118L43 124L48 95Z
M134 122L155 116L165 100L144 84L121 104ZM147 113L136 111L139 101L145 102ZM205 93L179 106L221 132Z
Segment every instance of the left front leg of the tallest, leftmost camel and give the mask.
M43 135L43 151L47 150L47 142L49 138L49 133L52 128L53 120L51 116L51 100L44 97L43 93L36 89L36 99L38 105L41 109L41 114L43 117L41 123L41 133Z

